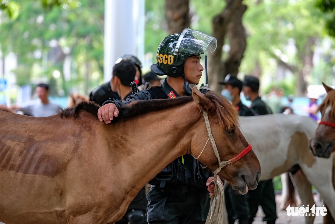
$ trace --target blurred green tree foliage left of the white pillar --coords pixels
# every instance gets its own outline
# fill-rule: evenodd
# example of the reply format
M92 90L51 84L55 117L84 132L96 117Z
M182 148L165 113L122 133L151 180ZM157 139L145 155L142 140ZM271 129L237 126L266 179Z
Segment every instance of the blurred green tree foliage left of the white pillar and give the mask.
M103 32L104 2L89 0L67 1L17 1L20 12L16 19L2 15L0 24L0 46L4 55L13 52L18 63L24 64L27 71L39 64L44 72L55 67L61 72L60 79L66 93L67 86L63 71L63 60L72 58L71 77L83 80L86 63L89 73L98 72L103 76ZM47 63L43 62L49 55ZM50 56L53 57L50 57ZM49 76L50 74L32 74ZM16 73L17 74L17 73ZM18 78L18 76L17 76ZM27 80L29 81L29 76ZM89 83L90 80L84 80ZM83 83L76 83L84 86ZM89 86L89 89L94 88Z

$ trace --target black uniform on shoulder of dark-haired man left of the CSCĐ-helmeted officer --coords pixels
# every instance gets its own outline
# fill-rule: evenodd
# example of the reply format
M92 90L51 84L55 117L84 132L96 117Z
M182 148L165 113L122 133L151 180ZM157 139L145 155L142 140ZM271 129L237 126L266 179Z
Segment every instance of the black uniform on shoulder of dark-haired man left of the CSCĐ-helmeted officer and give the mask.
M89 101L92 101L100 106L102 106L103 103L110 98L121 100L118 93L112 91L110 82L106 82L103 85L98 86L89 94Z

